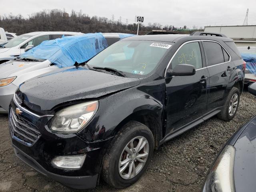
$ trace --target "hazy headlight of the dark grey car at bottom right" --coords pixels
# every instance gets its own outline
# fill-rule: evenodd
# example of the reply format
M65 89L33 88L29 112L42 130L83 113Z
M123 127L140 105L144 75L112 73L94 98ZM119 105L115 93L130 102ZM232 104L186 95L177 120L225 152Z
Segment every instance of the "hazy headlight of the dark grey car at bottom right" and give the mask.
M233 166L235 148L226 146L218 156L210 173L208 174L205 192L235 192Z

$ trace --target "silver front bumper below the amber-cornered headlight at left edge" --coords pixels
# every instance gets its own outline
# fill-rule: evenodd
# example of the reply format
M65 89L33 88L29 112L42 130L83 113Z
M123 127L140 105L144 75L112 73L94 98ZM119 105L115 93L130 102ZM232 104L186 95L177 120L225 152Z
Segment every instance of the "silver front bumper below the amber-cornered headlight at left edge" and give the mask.
M0 113L8 113L8 108L16 89L17 86L12 83L0 87Z

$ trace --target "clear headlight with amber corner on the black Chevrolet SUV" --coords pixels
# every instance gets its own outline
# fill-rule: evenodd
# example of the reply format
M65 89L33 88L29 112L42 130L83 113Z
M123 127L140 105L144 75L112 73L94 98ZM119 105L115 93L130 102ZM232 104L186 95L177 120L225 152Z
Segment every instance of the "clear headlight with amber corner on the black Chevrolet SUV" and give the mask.
M50 122L50 130L74 133L83 128L98 109L98 101L75 104L58 111Z

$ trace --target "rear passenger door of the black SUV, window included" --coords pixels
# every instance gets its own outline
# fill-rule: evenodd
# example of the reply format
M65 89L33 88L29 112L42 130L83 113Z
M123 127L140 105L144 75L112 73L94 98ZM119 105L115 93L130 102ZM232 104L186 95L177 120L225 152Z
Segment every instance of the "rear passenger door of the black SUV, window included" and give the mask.
M230 54L223 46L215 41L203 40L206 56L206 66L210 74L207 111L214 110L224 105L228 93L230 76L234 71L234 63Z

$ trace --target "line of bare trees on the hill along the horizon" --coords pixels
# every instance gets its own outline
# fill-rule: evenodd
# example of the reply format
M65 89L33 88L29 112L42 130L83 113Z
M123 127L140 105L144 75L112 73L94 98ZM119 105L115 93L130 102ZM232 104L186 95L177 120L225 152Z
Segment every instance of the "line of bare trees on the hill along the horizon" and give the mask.
M67 14L65 10L43 10L24 18L21 14L16 16L0 15L0 27L5 31L14 32L18 35L33 31L73 31L73 32L124 32L136 33L138 25L128 24L119 20L112 20L106 17L88 16L82 10L71 11ZM186 26L184 26L185 28ZM164 26L159 23L148 23L148 26L140 25L139 33L145 34L152 30L177 30L175 26Z

